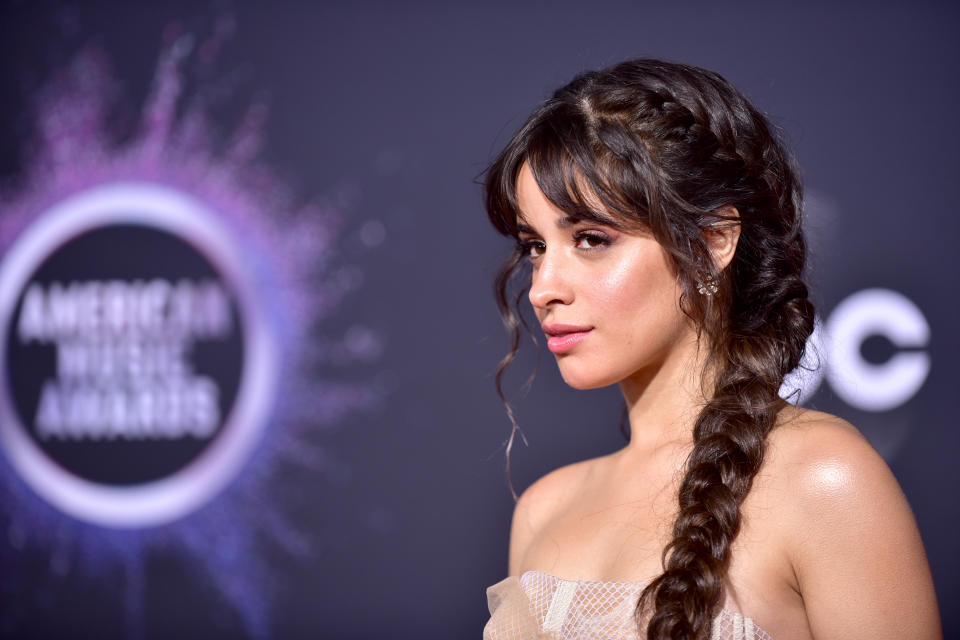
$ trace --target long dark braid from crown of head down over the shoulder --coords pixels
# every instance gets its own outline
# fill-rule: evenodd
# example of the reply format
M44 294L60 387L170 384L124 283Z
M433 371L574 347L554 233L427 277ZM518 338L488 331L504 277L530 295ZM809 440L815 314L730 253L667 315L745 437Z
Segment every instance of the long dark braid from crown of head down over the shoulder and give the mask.
M698 105L704 95L706 101L715 95L704 90L703 82L696 90ZM679 104L684 97L675 98L673 108L684 111ZM731 200L741 209L742 227L730 273L723 274L729 287L723 306L729 311L714 315L712 323L705 318L716 370L713 394L694 426L664 573L647 586L638 605L643 613L653 602L650 639L689 640L709 632L740 530L740 506L784 406L780 385L799 364L813 330L813 306L802 280L806 248L799 181L765 120L745 111L754 135L731 125L729 110L688 110L687 130L716 140L701 145L713 149L714 175L734 176L725 188L748 197Z

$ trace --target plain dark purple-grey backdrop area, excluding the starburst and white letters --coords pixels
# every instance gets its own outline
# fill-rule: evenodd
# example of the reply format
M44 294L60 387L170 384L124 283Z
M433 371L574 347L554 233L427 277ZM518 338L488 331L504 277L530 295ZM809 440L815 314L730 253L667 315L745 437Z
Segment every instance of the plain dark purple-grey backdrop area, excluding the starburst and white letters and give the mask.
M164 27L202 32L224 13L236 32L218 66L234 74L238 104L270 104L266 162L348 216L341 250L362 266L363 284L318 335L360 319L385 350L343 375L393 381L378 406L324 435L341 473L298 476L312 483L312 501L293 521L316 550L271 558L264 597L276 637L479 637L484 588L506 575L512 508L501 449L509 423L491 379L506 340L490 295L510 246L485 221L474 181L549 91L637 55L719 71L784 129L811 203L823 317L882 287L929 323L932 369L905 404L866 411L824 384L808 405L849 419L887 458L920 524L947 637L960 637L956 4L6 3L0 174L15 183L22 170L30 91L80 48L110 57L135 111ZM225 121L235 115L224 109ZM386 231L374 250L356 240L366 221ZM891 356L878 345L871 358ZM530 443L515 449L518 490L622 442L617 390L575 393L549 353L540 360L518 399ZM519 389L533 361L521 359L508 388ZM4 633L129 629L122 572L53 575L42 550L4 540L0 580L36 594L15 613L0 602ZM162 549L149 556L146 637L244 637L229 599L181 564Z

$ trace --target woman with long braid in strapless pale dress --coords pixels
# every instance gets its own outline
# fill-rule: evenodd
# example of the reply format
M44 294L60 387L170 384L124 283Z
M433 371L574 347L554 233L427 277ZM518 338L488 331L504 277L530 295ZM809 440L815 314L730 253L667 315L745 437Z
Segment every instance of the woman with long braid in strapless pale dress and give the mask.
M778 395L813 329L801 189L736 89L657 60L582 74L513 137L486 195L519 246L498 279L503 366L528 264L564 380L619 383L630 427L622 450L520 497L486 639L940 637L886 464Z

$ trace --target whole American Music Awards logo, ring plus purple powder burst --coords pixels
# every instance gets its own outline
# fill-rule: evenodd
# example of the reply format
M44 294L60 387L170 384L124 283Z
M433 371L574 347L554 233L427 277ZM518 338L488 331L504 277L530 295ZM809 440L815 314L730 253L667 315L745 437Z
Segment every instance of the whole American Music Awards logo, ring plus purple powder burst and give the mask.
M109 59L81 52L27 96L36 140L0 193L3 544L51 559L29 576L41 589L122 569L130 637L144 635L158 549L268 637L266 558L313 545L293 519L299 489L349 472L318 434L385 393L338 378L338 362L377 360L375 332L315 334L362 279L331 257L342 213L300 201L258 159L265 105L224 131L202 83L181 95L232 28L167 29L122 143ZM363 244L383 241L382 224L367 227L378 233ZM4 628L18 615L5 609Z

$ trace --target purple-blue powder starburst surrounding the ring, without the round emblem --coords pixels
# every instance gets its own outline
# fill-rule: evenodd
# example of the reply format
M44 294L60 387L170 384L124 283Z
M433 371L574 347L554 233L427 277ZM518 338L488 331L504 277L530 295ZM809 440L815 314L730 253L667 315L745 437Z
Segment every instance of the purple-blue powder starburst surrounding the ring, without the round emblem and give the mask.
M264 545L309 556L316 543L288 515L307 506L307 491L292 483L278 486L277 472L291 465L315 475L342 472L343 463L318 435L381 395L375 385L316 373L321 363L375 359L381 347L363 327L350 328L341 339L311 334L356 285L357 270L337 268L329 258L343 231L342 214L298 202L258 160L264 104L251 104L224 144L209 116L211 96L203 90L184 95L187 65L209 69L232 28L230 19L222 19L202 42L176 27L167 30L139 126L123 141L116 140L109 120L119 91L108 57L93 48L81 52L38 93L38 139L19 184L0 196L0 251L6 253L41 212L97 185L136 180L188 193L235 232L257 298L266 305L281 397L240 474L199 510L152 528L103 528L51 507L0 462L0 511L10 547L47 554L48 582L72 573L105 578L123 568L129 637L144 635L146 557L161 549L205 572L250 636L269 636L270 595L279 576L264 560Z

